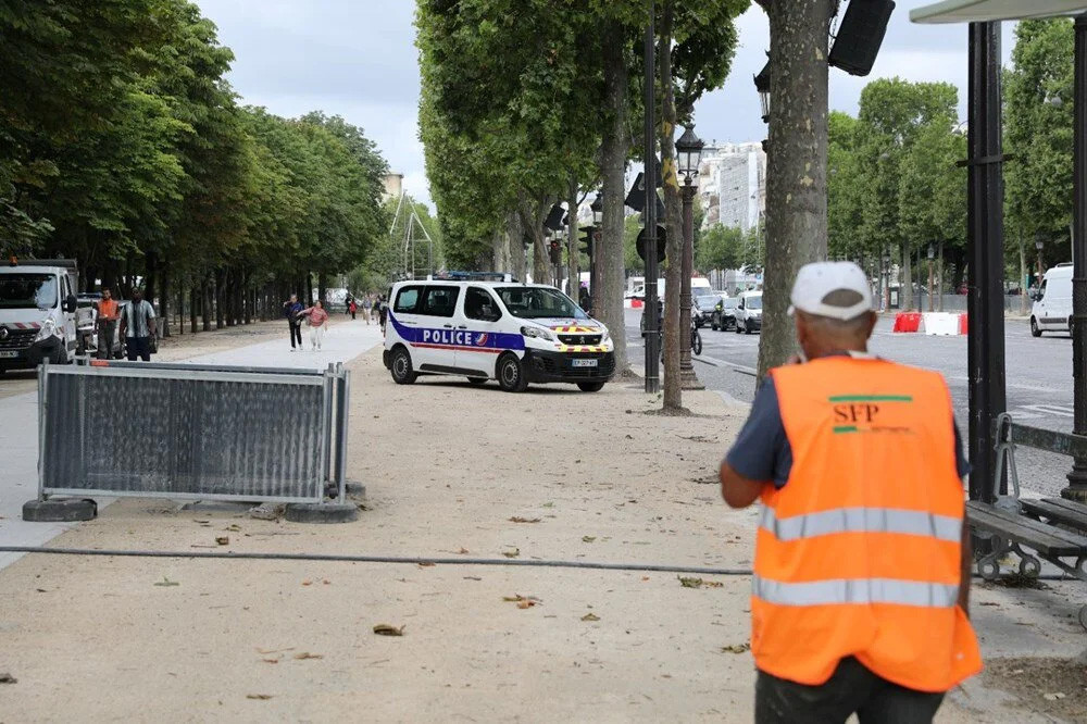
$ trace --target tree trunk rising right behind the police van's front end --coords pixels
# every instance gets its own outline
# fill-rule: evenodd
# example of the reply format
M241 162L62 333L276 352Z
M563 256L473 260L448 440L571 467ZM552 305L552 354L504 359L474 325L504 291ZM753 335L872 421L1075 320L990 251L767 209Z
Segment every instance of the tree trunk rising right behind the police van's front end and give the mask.
M609 123L600 143L600 173L603 178L603 221L600 264L597 269L600 296L595 297L597 319L611 330L615 345L615 371L627 369L626 313L623 309L623 282L626 273L623 254L623 199L626 198L626 153L630 147L627 133L626 34L619 23L602 28L604 112ZM596 292L594 292L596 294Z

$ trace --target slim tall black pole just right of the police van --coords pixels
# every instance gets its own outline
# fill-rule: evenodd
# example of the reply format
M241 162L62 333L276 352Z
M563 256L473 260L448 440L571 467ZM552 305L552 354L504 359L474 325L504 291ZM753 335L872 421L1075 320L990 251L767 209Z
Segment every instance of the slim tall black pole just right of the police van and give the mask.
M646 26L646 391L661 391L661 335L659 327L657 277L657 124L653 108L657 102L657 39L653 30L655 3L649 0L649 24Z

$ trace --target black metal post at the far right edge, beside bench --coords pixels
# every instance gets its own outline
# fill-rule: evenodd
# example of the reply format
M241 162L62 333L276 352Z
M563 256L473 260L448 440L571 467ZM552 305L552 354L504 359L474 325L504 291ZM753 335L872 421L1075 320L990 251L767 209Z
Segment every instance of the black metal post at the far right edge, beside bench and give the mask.
M1087 15L1076 16L1075 168L1072 205L1072 380L1073 425L1087 435ZM1041 258L1041 251L1038 251ZM1040 266L1040 264L1039 264ZM1041 273L1039 269L1039 274ZM1039 286L1041 280L1038 280ZM1087 460L1076 458L1062 498L1087 502Z

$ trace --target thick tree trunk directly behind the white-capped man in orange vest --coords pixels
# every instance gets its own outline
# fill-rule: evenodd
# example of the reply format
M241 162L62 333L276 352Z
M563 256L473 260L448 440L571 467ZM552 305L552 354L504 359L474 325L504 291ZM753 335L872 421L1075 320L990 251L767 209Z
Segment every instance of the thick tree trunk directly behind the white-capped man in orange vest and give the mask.
M826 259L827 32L835 0L763 1L770 15L770 153L759 377L796 351L797 272Z

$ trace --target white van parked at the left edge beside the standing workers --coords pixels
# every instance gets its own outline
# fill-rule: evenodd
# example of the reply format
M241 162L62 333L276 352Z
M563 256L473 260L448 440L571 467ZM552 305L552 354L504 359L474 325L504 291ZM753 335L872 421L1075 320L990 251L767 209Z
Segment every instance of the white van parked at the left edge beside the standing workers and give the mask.
M0 266L0 372L63 364L79 345L75 261L15 259ZM83 326L87 326L86 320Z

